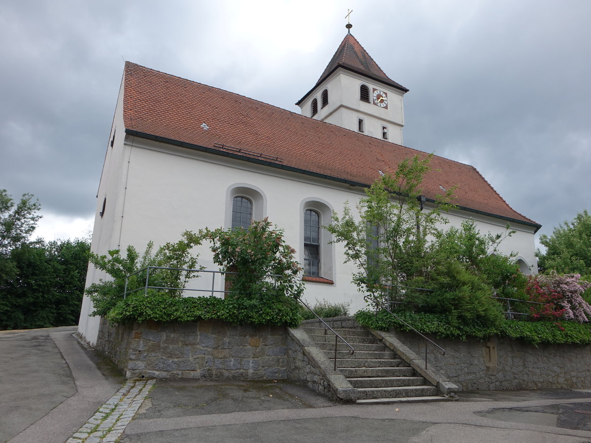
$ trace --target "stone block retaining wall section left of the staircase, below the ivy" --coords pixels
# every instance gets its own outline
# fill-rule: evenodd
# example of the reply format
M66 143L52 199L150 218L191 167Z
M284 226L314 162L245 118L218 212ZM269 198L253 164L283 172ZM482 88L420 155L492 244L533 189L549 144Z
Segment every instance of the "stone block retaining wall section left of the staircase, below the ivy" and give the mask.
M222 321L134 323L102 320L97 350L127 379L265 380L287 377L285 328Z

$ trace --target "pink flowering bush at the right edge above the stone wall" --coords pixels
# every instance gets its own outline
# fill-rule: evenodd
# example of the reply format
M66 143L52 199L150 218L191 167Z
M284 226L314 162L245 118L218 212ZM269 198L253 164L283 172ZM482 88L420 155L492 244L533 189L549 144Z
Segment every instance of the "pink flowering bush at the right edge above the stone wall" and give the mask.
M591 305L584 301L582 295L591 287L591 283L580 278L580 274L560 275L552 271L548 275L538 275L537 281L541 288L553 296L551 302L563 310L564 320L587 323L591 318ZM554 297L554 294L558 297Z

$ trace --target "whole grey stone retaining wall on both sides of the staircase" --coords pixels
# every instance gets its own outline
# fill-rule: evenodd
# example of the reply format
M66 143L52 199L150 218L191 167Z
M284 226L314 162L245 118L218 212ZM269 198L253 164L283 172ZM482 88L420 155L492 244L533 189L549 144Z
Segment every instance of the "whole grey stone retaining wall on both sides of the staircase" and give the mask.
M304 323L312 326L319 322ZM335 328L357 326L347 317L327 323ZM391 332L419 359L424 358L423 338ZM535 347L499 337L486 341L430 338L446 355L429 346L428 366L464 390L591 386L591 346ZM330 362L309 343L301 328L288 331L285 327L235 326L220 321L110 327L102 320L96 348L128 379L290 379L329 398L353 399L342 376L332 371Z

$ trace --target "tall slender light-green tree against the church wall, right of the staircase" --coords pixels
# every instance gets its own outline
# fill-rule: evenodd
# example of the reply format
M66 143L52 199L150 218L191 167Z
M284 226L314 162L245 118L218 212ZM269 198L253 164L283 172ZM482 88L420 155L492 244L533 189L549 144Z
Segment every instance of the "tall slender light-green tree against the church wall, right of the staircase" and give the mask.
M400 293L400 286L424 277L430 263L427 238L439 234L437 225L447 223L441 211L453 207L453 188L437 196L432 209L421 203L421 183L431 171L432 157L400 162L394 174L385 174L365 190L357 217L347 204L342 216L333 214L326 226L335 242L345 243L346 262L358 266L353 283L359 292L385 300Z

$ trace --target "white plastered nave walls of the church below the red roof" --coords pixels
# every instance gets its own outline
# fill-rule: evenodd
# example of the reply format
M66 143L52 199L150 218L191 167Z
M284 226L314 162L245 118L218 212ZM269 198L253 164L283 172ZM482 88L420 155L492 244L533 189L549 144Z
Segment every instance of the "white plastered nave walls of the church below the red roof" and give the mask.
M116 115L115 120L122 128L119 117ZM124 144L123 137L116 138L113 149L108 148L99 187L98 210L102 207L102 196L108 195L105 216L97 216L95 220L92 250L100 254L105 254L108 249L125 249L127 245L134 245L142 251L149 240L158 246L180 239L184 230L228 226L229 196L233 195L231 190L238 186L252 187L264 196L261 201L266 208L259 211L255 207L254 213L262 213L285 230L285 241L296 248L297 259L303 263L303 207L317 201L342 213L346 201L355 207L356 201L363 195L363 189L359 187L130 136L125 139ZM466 218L475 219L483 233L504 232L505 229L506 222L493 217L465 211L449 214L453 226L460 226ZM322 220L323 224L327 222ZM521 224L512 227L518 232L502 243L501 251L518 252L528 265L532 265L535 263L533 227ZM351 275L356 268L353 263L343 263L343 246L322 247L332 248L332 257L329 257L333 263L332 266L326 263L328 267L325 269L330 269L326 278L334 284L306 282L304 298L311 303L316 299L350 302L351 312L365 307L363 295L351 283ZM199 252L200 264L207 269L216 269L208 247L200 247ZM323 260L327 259L325 253L321 255ZM104 277L89 269L87 284ZM211 286L209 277L204 277L190 287ZM222 281L217 281L215 287L222 289ZM200 294L208 295L197 293ZM98 318L87 317L91 311L90 301L85 297L79 330L87 340L95 343Z

